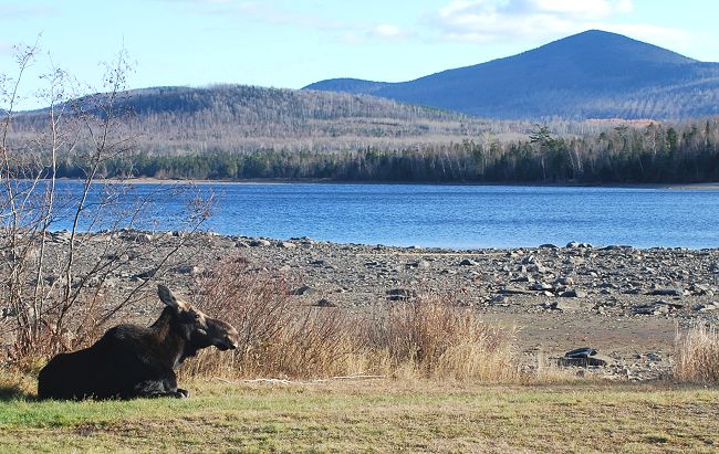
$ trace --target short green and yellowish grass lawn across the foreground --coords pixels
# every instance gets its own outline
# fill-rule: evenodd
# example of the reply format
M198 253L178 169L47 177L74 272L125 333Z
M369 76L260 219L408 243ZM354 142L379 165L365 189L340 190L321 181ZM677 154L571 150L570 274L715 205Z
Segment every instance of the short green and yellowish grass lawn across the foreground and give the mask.
M719 390L199 381L186 400L0 393L2 452L717 452Z

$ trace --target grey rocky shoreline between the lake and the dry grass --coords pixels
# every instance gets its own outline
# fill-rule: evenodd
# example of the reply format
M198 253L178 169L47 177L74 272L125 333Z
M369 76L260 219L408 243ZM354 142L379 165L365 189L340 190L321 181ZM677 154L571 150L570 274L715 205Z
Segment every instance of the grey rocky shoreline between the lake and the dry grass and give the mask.
M51 255L69 240L66 232L52 234ZM80 241L80 274L112 258L103 284L108 299L154 281L189 292L192 279L218 261L241 256L286 276L293 298L304 305L364 310L417 293L449 295L487 321L517 327L525 356L553 358L592 347L607 359L602 373L633 380L666 373L678 329L719 321L719 249L573 242L454 251L149 231L84 234ZM149 320L157 313L152 293L144 302L133 306L133 318Z

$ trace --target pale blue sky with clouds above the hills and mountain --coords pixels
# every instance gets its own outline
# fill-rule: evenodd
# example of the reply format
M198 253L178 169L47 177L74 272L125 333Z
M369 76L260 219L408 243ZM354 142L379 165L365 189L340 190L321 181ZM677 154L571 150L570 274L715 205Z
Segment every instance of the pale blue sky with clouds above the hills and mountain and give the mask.
M590 29L719 62L717 18L716 0L0 0L0 82L14 85L17 49L35 43L20 109L45 104L54 68L103 91L119 53L127 88L402 82Z

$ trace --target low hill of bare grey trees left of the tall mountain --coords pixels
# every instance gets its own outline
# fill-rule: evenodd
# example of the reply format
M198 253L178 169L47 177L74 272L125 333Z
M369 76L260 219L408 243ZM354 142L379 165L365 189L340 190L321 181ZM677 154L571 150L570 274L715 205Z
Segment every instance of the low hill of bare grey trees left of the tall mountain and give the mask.
M72 104L92 110L105 96ZM461 140L484 128L463 114L368 95L246 85L128 91L115 112L126 135L149 154L403 148ZM31 135L46 119L46 110L21 114L14 130Z

